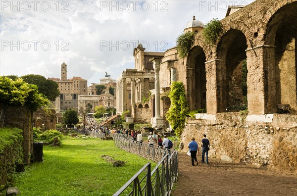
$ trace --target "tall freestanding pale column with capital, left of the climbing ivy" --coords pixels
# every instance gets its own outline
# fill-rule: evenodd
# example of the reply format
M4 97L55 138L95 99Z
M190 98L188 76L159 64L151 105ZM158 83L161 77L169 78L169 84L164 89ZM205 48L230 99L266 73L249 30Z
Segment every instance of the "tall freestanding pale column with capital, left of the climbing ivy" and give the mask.
M154 69L154 79L155 79L155 117L152 119L152 127L163 127L163 118L160 115L160 81L159 81L159 71L160 71L160 58L149 59L153 62Z

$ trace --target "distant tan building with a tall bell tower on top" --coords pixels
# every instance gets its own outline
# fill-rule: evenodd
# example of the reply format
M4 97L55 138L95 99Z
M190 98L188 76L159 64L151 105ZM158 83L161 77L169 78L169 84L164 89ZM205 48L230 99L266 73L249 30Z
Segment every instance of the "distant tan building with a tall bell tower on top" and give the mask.
M61 64L61 79L48 78L59 85L60 96L55 100L55 109L59 113L66 109L75 109L78 111L78 96L88 95L88 80L81 77L67 79L67 64Z

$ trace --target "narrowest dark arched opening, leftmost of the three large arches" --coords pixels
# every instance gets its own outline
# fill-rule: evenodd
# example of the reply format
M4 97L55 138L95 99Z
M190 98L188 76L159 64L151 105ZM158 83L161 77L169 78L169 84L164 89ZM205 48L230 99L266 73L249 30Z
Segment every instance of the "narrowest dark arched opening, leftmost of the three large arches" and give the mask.
M199 46L187 58L187 96L190 110L206 109L205 53Z

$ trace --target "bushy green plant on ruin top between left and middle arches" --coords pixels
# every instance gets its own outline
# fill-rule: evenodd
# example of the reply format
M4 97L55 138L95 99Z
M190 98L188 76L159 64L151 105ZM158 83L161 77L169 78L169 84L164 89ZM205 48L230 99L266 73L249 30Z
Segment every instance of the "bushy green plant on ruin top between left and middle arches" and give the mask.
M202 36L204 38L205 43L212 46L217 42L221 32L221 22L218 20L218 18L213 18L204 26Z

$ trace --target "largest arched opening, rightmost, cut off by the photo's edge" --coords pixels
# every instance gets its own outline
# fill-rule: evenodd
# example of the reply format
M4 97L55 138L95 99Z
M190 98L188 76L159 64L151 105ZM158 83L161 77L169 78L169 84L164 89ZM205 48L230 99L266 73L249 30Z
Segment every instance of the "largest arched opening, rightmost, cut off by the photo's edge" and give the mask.
M266 44L274 46L269 60L268 80L271 109L278 113L297 114L297 2L276 11L267 23ZM274 54L274 58L273 58ZM275 99L275 100L273 100Z

